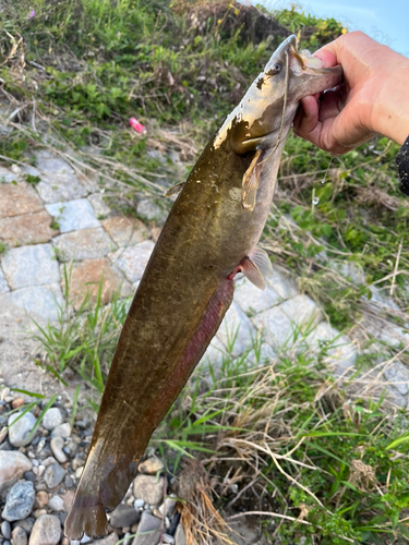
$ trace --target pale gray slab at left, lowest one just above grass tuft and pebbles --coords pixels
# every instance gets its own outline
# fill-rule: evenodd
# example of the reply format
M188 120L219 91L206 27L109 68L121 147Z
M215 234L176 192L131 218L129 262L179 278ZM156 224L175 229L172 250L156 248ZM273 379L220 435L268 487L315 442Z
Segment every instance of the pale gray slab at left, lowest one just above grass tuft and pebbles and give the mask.
M24 308L28 314L38 314L45 319L58 319L59 308L63 305L62 291L59 283L31 286L11 291L9 300Z

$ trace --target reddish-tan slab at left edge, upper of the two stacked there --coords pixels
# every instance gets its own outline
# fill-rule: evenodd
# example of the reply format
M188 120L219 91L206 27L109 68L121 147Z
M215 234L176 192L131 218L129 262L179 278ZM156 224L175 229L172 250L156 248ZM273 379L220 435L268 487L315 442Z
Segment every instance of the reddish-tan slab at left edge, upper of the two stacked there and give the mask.
M40 210L44 210L43 202L27 183L0 184L0 218L12 218Z

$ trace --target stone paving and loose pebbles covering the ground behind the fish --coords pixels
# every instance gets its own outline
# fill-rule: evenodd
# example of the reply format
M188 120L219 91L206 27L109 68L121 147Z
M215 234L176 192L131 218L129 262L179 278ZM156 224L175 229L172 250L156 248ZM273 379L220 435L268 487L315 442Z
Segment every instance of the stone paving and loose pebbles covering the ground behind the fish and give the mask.
M81 306L87 292L96 296L101 276L105 304L115 292L131 295L164 220L161 209L148 198L137 208L145 222L115 215L96 182L80 175L69 162L48 152L37 152L36 160L36 168L0 168L0 242L8 247L0 254L3 545L69 544L62 524L93 433L92 419L82 415L71 427L70 395L34 364L36 344L27 340L26 331L33 327L29 317L40 325L58 318L64 296L64 267L70 264L74 307ZM346 274L351 277L351 272ZM376 308L393 303L378 296L373 304ZM409 342L406 332L384 318L368 320L365 327L368 335L390 346ZM254 341L261 338L261 353L255 355ZM224 353L230 352L233 358L246 354L253 361L264 361L284 349L306 347L317 351L323 342L332 343L326 363L335 375L356 372L360 351L356 337L340 335L318 304L299 292L286 271L276 268L264 292L243 278L237 281L234 301L205 360L217 367ZM387 388L394 403L407 405L409 373L397 358L375 372L375 379ZM46 396L60 391L60 396L35 428L40 407L16 420L27 398L10 388ZM1 416L13 409L11 415ZM177 494L173 485L163 462L148 458L123 505L110 516L111 534L98 543L115 545L124 538L121 543L128 545L157 545L160 540L183 545L183 530L178 525L171 496Z

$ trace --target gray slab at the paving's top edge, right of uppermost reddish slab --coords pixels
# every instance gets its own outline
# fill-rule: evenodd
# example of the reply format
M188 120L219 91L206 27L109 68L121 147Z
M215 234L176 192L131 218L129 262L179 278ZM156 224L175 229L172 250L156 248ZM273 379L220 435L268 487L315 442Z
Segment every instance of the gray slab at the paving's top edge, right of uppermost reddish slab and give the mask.
M47 174L41 175L41 181L36 185L39 196L45 203L58 203L85 197L88 190L74 174Z

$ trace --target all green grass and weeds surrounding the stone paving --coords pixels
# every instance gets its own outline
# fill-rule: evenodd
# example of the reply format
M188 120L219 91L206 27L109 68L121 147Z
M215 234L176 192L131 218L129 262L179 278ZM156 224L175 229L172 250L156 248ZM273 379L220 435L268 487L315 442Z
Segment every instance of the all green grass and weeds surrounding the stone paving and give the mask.
M57 148L109 184L110 205L132 214L137 196L158 197L185 179L285 36L313 50L345 32L294 9L273 20L193 0L5 0L0 26L0 124L9 131L1 160ZM134 116L147 135L129 129ZM286 145L262 243L340 330L365 316L374 288L400 308L387 318L405 325L409 202L397 190L396 153L385 138L333 159L292 135ZM63 383L80 374L97 410L128 302L105 307L99 290L92 310L85 300L74 312L68 279L65 270L58 325L36 335L46 353L38 364ZM182 457L201 460L227 522L244 510L270 513L254 518L272 543L402 543L404 412L340 390L325 371L329 348L288 350L264 366L226 358L221 370L196 372L153 445L177 475ZM398 350L385 347L385 355ZM363 354L362 368L377 356Z

